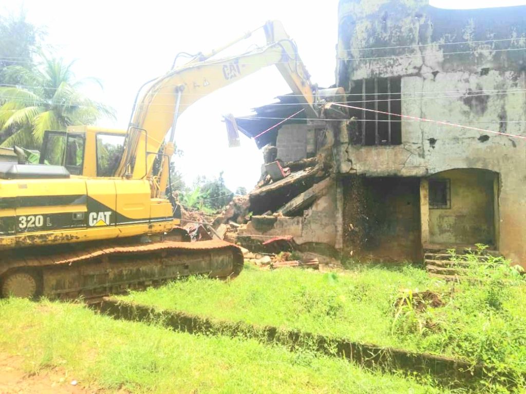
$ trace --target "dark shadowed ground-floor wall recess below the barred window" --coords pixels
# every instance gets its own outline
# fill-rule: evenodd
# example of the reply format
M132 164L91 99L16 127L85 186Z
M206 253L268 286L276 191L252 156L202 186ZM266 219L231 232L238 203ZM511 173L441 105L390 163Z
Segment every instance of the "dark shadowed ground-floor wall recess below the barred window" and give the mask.
M419 179L354 176L343 185L344 255L354 260L418 261Z

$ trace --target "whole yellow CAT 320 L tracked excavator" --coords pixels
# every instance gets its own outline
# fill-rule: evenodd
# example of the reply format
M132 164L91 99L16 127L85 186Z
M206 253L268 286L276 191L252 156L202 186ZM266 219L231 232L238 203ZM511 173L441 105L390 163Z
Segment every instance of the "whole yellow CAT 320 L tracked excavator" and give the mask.
M236 245L180 240L166 190L178 117L221 87L276 65L308 117L319 116L295 43L277 21L263 28L264 47L215 58L256 29L148 81L127 130L46 131L41 164L0 163L0 296L89 299L191 274L240 273Z

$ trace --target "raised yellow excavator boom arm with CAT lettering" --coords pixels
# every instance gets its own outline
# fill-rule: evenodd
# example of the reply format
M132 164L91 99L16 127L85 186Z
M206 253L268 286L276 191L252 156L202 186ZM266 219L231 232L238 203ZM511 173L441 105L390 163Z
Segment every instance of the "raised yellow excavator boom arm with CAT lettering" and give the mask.
M155 155L174 125L174 116L201 97L264 67L276 65L305 105L307 116L317 117L315 91L295 43L279 22L268 22L265 33L266 47L234 57L191 61L152 82L137 103L116 176L131 174L134 179L149 176Z

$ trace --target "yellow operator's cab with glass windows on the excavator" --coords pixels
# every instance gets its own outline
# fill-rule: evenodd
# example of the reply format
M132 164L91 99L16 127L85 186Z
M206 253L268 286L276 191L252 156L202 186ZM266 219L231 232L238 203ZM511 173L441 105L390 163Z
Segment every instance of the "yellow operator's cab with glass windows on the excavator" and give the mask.
M62 165L72 175L113 177L122 158L126 131L72 126L44 133L40 164Z

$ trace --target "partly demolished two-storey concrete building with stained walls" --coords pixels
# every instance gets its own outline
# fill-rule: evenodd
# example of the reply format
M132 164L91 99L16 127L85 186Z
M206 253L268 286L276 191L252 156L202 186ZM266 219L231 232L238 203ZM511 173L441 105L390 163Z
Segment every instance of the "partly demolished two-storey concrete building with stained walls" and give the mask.
M525 265L525 15L340 0L335 86L348 120L296 117L257 140L284 165L316 163L260 184L239 235L287 234L367 260L483 243ZM280 102L240 128L254 137L297 111L294 97Z

